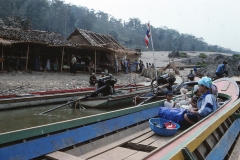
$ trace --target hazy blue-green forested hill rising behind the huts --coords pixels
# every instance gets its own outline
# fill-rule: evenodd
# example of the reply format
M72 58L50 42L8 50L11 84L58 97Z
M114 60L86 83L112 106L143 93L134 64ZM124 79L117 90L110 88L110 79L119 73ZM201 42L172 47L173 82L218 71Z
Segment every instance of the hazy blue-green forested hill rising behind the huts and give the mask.
M67 38L75 28L111 34L123 45L145 50L146 22L138 18L129 21L115 19L102 11L69 5L60 0L0 0L0 18L21 16L29 18L32 29L53 31ZM215 51L237 53L217 45L209 45L203 38L182 34L167 27L152 27L154 48L162 51ZM149 46L151 49L151 46Z

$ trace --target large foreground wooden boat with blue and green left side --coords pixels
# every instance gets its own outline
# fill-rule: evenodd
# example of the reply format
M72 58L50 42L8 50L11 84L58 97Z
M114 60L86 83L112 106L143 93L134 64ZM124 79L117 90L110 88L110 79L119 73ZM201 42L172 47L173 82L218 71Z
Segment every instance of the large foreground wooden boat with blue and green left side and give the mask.
M159 106L163 104L163 101L158 101L91 117L2 133L1 158L33 159L54 157L61 153L82 159L184 159L182 148L188 147L190 151L194 151L240 107L240 100L236 101L239 89L235 82L220 79L215 84L218 86L219 96L228 101L216 112L188 130L179 131L174 137L154 135L148 127L149 118L156 117ZM225 125L225 129L232 121L227 122L229 124Z

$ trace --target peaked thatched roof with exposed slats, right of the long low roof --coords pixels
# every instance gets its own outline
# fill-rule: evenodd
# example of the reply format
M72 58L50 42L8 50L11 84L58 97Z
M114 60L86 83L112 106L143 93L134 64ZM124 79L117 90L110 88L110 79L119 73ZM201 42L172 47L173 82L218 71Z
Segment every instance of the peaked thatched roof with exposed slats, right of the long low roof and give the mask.
M78 39L74 42L73 38L76 36L82 36L83 39ZM76 45L78 46L88 45L112 48L115 50L128 50L126 47L122 46L118 41L116 41L111 35L86 31L80 28L76 28L75 31L68 37L68 40L72 43L77 43Z

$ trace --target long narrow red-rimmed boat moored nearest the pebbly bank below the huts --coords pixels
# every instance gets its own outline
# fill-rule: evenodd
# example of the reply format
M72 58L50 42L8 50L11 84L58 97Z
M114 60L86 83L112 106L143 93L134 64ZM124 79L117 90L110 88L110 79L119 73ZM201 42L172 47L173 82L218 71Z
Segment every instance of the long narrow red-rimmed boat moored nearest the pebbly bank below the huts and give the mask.
M125 86L115 86L115 88L120 90L142 90L150 88L150 83L140 83L132 84ZM63 91L48 91L48 92L36 92L32 96L23 96L23 97L13 97L13 98L4 98L0 99L0 110L21 108L21 107L34 107L38 105L46 105L52 103L60 103L71 101L72 99L77 99L79 96L84 96L92 93L95 90L95 87L84 88L79 91L75 90L63 90Z

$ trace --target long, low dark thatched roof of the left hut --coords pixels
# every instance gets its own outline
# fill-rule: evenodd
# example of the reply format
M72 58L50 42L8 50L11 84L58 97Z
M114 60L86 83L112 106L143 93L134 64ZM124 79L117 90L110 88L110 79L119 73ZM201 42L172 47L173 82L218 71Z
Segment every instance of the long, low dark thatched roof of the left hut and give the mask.
M72 45L67 40L65 40L60 34L37 30L0 28L0 38L10 43L35 43L51 46Z

